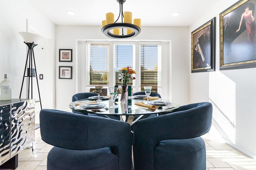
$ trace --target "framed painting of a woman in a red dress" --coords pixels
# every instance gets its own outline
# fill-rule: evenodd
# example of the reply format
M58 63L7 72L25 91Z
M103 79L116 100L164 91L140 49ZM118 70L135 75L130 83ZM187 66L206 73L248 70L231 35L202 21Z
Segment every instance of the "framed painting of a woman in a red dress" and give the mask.
M256 0L240 0L220 13L220 70L256 67L255 7Z

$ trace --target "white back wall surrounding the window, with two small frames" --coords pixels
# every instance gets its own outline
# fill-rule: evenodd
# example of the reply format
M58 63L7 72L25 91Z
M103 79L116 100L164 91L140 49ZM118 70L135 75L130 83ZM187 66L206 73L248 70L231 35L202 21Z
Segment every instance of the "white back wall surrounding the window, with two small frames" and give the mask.
M164 40L162 44L162 98L188 104L188 27L142 27L132 40ZM56 109L71 111L72 96L82 92L85 72L85 44L82 40L109 40L100 26L56 26ZM114 39L111 39L114 40ZM169 50L171 46L171 50ZM58 62L58 49L73 49L73 62ZM84 62L84 63L83 63ZM58 79L58 66L73 66L73 79Z

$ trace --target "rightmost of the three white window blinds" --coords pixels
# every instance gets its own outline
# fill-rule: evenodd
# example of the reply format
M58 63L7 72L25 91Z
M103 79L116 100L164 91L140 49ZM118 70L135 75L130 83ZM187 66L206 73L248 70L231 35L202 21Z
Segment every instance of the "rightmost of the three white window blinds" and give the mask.
M140 86L152 86L152 92L158 92L161 86L161 45L140 44Z

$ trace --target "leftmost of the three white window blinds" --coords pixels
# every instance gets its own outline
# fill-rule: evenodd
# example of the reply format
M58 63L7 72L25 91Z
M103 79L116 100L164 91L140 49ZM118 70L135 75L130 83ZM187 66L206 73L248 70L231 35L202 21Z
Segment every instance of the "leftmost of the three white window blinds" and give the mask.
M109 44L87 43L87 68L90 85L109 83Z

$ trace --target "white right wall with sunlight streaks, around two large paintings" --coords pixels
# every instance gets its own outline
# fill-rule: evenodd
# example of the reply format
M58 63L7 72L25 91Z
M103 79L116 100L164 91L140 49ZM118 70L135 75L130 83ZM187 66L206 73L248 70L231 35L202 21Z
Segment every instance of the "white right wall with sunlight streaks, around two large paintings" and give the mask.
M256 68L220 71L219 14L237 0L216 4L198 17L191 32L216 17L216 71L190 73L190 103L209 100L214 106L212 132L219 132L230 145L256 158ZM189 55L191 64L191 51Z

